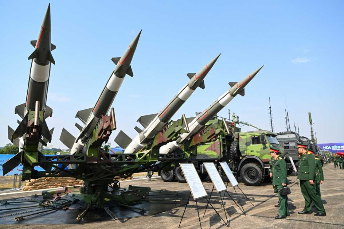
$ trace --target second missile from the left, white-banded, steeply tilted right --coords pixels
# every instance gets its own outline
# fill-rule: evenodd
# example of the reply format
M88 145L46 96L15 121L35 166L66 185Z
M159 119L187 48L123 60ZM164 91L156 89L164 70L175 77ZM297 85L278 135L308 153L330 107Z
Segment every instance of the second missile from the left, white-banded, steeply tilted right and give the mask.
M142 30L141 30L142 31ZM114 101L118 90L123 82L126 75L133 76L131 69L131 60L135 53L141 31L131 42L127 50L124 52L122 57L112 58L112 62L115 63L116 67L111 73L103 91L101 92L95 106L93 108L80 110L76 113L76 118L79 118L85 127L79 132L75 138L74 143L71 142L71 134L65 129L62 130L60 140L68 147L71 148L71 154L77 153L84 147L88 139L92 138L92 131L96 127L100 116L108 113L112 102ZM73 137L74 138L74 137Z

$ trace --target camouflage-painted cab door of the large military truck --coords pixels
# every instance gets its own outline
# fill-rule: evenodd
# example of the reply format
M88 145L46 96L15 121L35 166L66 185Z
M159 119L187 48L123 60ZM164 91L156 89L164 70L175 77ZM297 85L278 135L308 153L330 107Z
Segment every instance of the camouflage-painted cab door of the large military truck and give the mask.
M270 153L264 134L250 135L246 137L246 154L257 156L263 162L269 161Z

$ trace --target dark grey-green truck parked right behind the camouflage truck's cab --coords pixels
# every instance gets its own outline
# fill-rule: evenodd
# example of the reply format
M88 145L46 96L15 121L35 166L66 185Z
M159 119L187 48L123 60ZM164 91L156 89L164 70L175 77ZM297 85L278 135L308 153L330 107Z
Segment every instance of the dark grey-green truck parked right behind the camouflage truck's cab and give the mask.
M286 162L290 162L289 157L292 158L296 167L299 166L299 152L297 149L297 144L301 143L299 134L293 131L282 131L277 134L277 140L282 145L284 153L286 155ZM303 141L302 141L303 142ZM293 168L289 167L287 174L291 174Z

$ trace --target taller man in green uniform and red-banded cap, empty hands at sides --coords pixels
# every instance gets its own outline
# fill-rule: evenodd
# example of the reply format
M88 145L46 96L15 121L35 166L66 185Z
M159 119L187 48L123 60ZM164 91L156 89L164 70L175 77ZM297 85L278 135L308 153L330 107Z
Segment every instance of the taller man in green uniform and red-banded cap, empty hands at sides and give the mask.
M312 214L312 205L314 203L318 213L314 216L326 216L324 205L321 198L316 194L314 184L315 177L315 159L313 154L307 151L307 145L298 143L300 156L298 179L300 180L301 193L304 197L305 206L299 214Z

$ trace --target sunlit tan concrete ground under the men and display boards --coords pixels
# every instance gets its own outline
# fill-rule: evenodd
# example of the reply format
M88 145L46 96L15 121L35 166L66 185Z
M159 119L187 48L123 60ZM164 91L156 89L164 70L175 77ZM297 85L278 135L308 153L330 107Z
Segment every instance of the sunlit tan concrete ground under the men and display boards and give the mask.
M227 196L225 198L225 207L227 217L230 219L231 228L312 228L312 229L330 229L330 228L344 228L344 170L334 168L333 163L327 164L323 167L325 181L321 186L322 199L325 203L325 209L327 216L315 217L312 215L300 215L297 212L301 211L304 206L304 198L301 194L300 188L295 183L295 177L293 174L288 176L289 187L291 194L288 196L290 217L287 219L277 220L278 209L274 207L277 204L278 197L273 193L273 189L270 183L264 183L258 187L246 186L243 183L239 183L240 188L244 191L247 197L252 201L254 206L250 205L249 201L245 201L245 196L239 194L240 202L243 203L243 207L246 211L246 216L241 213L234 202ZM127 187L129 184L136 186L149 186L152 189L167 189L173 191L181 191L183 193L189 193L187 184L172 182L163 182L160 178L154 178L151 182L147 179L136 179L128 182L121 183L121 187ZM213 187L211 182L203 182L208 195L210 195ZM236 188L237 189L237 188ZM228 187L229 193L235 197L233 187ZM240 191L239 191L240 192ZM11 195L0 195L1 199L15 198L28 196L35 193L20 193ZM39 192L37 192L39 194ZM219 195L212 196L211 203L225 219L223 208L220 206ZM221 222L221 219L216 215L213 209L208 208L205 217L203 216L206 200L199 200L198 207L200 209L202 228L226 228ZM196 211L195 202L191 199L190 204L187 206L185 216L183 218L181 228L200 228L198 222L198 216ZM314 209L315 210L315 209ZM50 225L49 228L121 228L121 229L134 229L134 228L178 228L181 216L184 211L184 206L172 209L161 214L154 216L132 218L125 220L112 220L99 223L90 223L83 225ZM53 216L52 216L53 217ZM1 219L0 219L1 223ZM49 223L49 222L47 222ZM46 225L16 225L8 226L2 225L1 228L46 228Z

